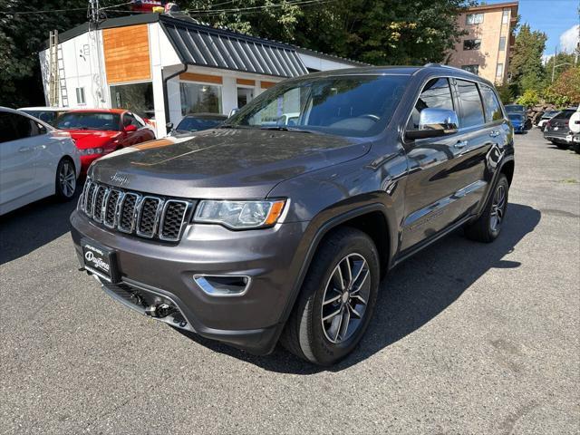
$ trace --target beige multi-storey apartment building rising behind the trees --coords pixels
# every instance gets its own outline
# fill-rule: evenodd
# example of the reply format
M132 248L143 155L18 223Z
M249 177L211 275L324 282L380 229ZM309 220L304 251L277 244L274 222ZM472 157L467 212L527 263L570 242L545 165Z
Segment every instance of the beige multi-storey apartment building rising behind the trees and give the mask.
M470 7L458 17L461 37L450 53L449 65L476 73L490 82L507 80L507 66L515 42L517 2Z

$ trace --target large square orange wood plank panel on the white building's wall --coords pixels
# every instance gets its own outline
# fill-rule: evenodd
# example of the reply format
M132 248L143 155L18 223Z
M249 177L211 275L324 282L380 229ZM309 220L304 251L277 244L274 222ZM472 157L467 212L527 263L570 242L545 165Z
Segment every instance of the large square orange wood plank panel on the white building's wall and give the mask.
M147 24L102 30L107 82L151 80Z

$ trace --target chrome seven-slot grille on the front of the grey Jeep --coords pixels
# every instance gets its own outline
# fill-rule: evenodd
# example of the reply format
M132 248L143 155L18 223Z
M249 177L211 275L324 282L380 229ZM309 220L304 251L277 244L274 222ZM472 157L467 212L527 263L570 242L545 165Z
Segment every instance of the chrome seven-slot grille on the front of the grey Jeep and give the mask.
M92 221L105 227L177 242L195 201L141 194L87 179L80 205Z

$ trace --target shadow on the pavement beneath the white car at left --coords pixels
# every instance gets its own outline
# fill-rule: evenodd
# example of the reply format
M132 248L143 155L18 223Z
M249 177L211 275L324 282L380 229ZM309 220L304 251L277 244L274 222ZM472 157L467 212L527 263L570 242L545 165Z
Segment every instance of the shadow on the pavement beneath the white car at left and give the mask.
M81 192L82 183L77 186L74 198L68 202L59 202L54 197L44 198L0 217L0 265L25 256L68 233L69 217Z

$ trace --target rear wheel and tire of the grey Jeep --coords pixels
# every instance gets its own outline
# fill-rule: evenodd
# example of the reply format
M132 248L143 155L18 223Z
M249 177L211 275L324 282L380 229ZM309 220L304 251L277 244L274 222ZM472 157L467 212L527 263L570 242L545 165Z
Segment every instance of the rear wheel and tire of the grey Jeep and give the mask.
M490 243L498 238L507 213L509 183L504 174L499 175L493 194L488 199L481 216L465 227L465 235L471 240Z

